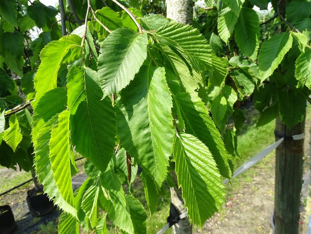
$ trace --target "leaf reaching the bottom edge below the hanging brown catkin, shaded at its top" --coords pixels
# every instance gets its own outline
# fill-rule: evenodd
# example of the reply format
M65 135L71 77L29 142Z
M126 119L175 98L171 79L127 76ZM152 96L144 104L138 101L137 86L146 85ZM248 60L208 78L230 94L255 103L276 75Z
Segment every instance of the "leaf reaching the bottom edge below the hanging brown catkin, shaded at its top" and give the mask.
M100 203L109 215L109 219L122 230L134 233L129 205L126 201L122 184L112 169L101 176Z

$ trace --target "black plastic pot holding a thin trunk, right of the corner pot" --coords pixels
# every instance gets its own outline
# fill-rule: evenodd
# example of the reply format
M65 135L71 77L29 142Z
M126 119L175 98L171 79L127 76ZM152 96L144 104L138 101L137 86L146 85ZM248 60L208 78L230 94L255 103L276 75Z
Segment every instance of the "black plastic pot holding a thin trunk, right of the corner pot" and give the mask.
M32 216L42 217L55 209L53 201L43 193L43 189L27 191L27 204Z

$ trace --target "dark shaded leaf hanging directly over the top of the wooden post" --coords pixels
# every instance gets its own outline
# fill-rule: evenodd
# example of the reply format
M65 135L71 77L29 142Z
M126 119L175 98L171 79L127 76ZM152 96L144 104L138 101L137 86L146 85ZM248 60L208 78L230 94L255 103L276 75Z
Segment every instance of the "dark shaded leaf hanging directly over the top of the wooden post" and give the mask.
M281 121L289 128L304 119L306 112L306 99L297 95L293 90L276 89Z

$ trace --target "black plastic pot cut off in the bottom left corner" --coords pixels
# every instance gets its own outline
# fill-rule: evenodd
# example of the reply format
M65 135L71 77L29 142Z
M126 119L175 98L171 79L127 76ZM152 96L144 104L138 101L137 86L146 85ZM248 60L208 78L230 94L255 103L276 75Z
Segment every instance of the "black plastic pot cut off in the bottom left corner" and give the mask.
M11 207L9 205L0 206L0 233L11 234L16 229L16 223Z

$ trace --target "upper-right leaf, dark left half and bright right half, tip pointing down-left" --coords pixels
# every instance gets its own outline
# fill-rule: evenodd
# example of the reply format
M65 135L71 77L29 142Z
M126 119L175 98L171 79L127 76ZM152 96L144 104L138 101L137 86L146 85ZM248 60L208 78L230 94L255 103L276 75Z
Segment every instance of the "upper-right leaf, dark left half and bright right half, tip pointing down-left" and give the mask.
M267 79L281 63L284 55L290 50L293 37L289 33L282 32L273 35L262 43L258 56L259 71L262 79Z

